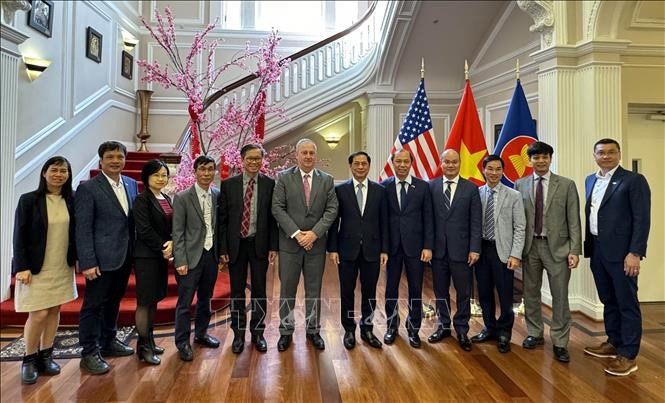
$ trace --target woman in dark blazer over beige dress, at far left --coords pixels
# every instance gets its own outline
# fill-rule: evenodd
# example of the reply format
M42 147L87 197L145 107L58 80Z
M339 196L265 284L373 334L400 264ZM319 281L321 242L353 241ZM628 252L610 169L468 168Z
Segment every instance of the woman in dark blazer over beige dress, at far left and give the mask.
M46 161L39 187L21 195L14 221L14 306L16 312L28 312L21 381L33 384L40 373L60 373L52 357L60 305L78 297L69 161L63 157Z

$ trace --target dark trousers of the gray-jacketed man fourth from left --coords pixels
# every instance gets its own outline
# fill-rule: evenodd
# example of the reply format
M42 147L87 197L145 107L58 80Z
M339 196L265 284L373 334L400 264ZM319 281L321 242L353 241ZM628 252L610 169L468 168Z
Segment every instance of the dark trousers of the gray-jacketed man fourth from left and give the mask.
M178 282L178 302L175 308L175 345L182 348L189 343L191 333L191 313L189 311L196 293L196 315L194 317L194 335L205 336L212 311L210 298L217 281L217 261L213 251L203 251L199 264L190 268L187 274L176 274Z

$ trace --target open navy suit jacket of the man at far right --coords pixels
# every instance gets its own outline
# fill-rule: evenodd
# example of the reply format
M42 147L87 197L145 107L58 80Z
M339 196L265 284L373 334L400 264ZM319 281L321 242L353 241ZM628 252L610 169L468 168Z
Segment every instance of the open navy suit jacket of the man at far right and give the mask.
M584 256L591 257L593 237L589 228L589 215L596 174L587 176L584 184L586 189ZM630 252L646 256L650 224L651 190L647 180L644 176L619 166L607 185L598 209L598 238L603 244L603 256L613 262L622 262Z

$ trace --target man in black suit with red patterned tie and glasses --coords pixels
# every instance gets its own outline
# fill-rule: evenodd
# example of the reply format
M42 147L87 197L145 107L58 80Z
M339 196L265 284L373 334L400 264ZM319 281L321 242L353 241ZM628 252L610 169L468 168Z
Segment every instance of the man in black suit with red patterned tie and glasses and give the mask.
M245 346L245 288L247 264L252 284L252 344L257 351L268 349L263 330L267 313L266 273L277 257L277 223L271 203L275 181L259 173L263 149L247 144L240 150L243 173L222 182L219 196L219 245L221 260L229 264L231 277L231 350L239 354Z

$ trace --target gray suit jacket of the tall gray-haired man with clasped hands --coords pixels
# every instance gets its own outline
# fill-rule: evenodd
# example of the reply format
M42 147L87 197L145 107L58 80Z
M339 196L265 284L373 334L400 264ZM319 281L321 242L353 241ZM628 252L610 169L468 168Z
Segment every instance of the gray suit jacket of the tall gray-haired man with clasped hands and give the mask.
M309 206L298 167L280 172L272 197L272 214L279 224L279 249L296 253L298 242L291 238L298 230L314 231L316 242L310 253L325 253L326 234L337 217L337 196L333 177L318 169L311 172Z

